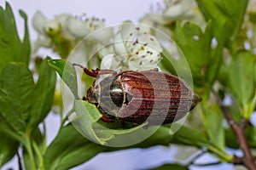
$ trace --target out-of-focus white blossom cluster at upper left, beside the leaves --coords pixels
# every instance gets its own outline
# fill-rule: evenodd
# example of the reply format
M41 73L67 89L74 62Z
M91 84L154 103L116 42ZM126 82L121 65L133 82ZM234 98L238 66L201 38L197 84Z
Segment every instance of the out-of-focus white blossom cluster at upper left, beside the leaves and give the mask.
M56 15L53 20L47 20L44 14L37 12L32 19L33 27L38 31L38 40L33 43L33 50L40 47L53 48L54 38L71 42L73 46L90 33L105 27L104 20L95 17L74 17L71 14ZM112 30L104 29L105 34L90 37L91 41L108 41L113 36Z

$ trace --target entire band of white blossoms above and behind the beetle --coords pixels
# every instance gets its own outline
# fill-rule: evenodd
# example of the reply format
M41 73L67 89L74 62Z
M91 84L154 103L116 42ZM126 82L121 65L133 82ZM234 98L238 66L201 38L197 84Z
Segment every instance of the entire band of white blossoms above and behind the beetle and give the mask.
M194 20L200 22L199 26L203 26L202 23L205 22L195 0L165 0L165 8L162 12L146 14L140 20L141 24L147 26L125 21L115 33L110 27L105 27L103 20L96 18L83 20L82 17L60 14L53 20L46 20L44 14L38 12L33 18L33 26L39 34L38 41L34 43L34 49L37 50L41 46L53 48L52 46L55 45L53 44L53 38L55 38L53 35L64 37L72 44L72 48L85 37L88 41L96 42L93 44L95 46L110 44L98 52L102 59L101 69L148 70L159 68L158 64L163 49L157 39L159 37L156 38L149 32L152 32L154 27L158 28L158 26L164 26L175 20ZM101 31L98 31L99 29ZM97 33L94 34L95 31ZM172 32L167 34L171 36Z

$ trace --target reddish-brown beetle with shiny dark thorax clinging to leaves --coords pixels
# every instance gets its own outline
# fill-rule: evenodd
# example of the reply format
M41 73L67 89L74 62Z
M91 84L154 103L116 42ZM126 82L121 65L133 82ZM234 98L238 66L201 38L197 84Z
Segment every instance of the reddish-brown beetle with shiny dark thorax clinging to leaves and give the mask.
M120 121L149 126L176 122L191 111L201 98L181 78L158 69L148 71L88 70L96 80L86 100L102 112L103 122Z

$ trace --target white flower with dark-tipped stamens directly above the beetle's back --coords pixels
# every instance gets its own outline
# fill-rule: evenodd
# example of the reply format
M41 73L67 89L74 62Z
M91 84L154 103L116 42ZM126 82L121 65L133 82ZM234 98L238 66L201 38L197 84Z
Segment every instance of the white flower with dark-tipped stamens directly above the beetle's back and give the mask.
M153 69L158 67L161 51L160 42L154 36L141 31L131 21L125 21L114 37L114 53L103 57L101 69Z

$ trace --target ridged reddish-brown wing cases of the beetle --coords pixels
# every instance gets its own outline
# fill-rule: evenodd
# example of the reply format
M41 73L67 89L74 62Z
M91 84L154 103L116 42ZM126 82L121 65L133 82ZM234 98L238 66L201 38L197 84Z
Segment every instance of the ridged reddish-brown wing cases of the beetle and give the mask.
M117 117L127 122L160 125L186 115L201 98L182 79L159 71L123 71L122 88L131 96Z

